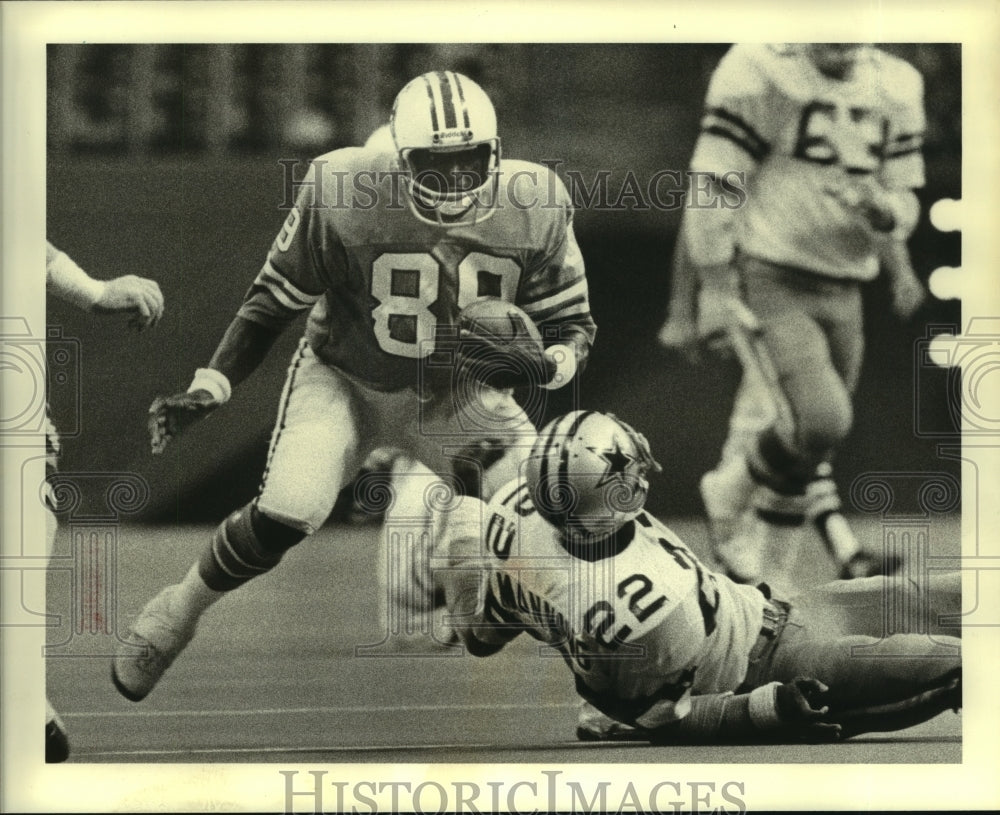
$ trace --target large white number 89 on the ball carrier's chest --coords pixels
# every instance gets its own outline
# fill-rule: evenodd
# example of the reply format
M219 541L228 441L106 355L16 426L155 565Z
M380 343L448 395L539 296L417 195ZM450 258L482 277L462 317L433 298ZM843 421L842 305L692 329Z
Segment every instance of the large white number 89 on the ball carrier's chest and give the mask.
M513 258L470 252L458 264L458 310L480 297L514 302L521 267ZM428 252L386 252L372 262L375 338L383 351L414 359L434 350L439 317L433 306L445 296L447 269Z

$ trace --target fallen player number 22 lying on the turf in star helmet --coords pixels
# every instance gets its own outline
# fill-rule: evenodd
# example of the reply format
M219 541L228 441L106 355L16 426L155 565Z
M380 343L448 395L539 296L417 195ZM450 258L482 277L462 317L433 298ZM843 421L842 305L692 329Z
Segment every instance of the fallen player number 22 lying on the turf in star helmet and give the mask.
M643 510L651 468L635 430L576 411L539 433L524 477L463 507L448 605L470 652L522 632L558 649L577 692L625 726L581 738L839 739L961 705L958 573L771 597ZM926 601L927 632L887 635L893 600Z

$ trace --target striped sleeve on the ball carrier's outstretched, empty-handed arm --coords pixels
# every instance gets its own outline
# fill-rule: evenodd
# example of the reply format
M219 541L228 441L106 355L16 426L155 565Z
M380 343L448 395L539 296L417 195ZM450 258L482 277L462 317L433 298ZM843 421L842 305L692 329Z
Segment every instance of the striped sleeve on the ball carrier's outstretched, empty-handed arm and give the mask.
M272 328L282 328L311 309L328 288L324 259L331 238L315 203L316 165L302 181L295 206L288 213L267 259L247 291L238 316Z

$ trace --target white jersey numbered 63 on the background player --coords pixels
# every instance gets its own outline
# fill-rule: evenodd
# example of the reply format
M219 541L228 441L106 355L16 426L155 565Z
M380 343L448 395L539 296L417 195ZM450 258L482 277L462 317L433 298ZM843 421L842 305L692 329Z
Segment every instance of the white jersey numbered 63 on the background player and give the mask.
M705 108L692 169L745 173L747 183L735 218L733 210L689 210L699 262L725 262L728 255L711 255L735 244L827 276L877 274L871 229L826 190L863 176L889 189L923 186L923 79L915 68L864 48L837 80L801 47L736 45L712 76ZM713 219L733 230L721 244Z

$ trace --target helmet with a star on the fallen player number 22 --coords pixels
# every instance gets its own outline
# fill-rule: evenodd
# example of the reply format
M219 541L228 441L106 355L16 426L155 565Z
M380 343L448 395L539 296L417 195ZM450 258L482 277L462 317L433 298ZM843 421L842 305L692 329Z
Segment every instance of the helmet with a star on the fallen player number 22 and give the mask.
M539 433L526 477L543 518L593 538L614 534L642 511L646 474L661 469L641 433L610 413L577 410Z

